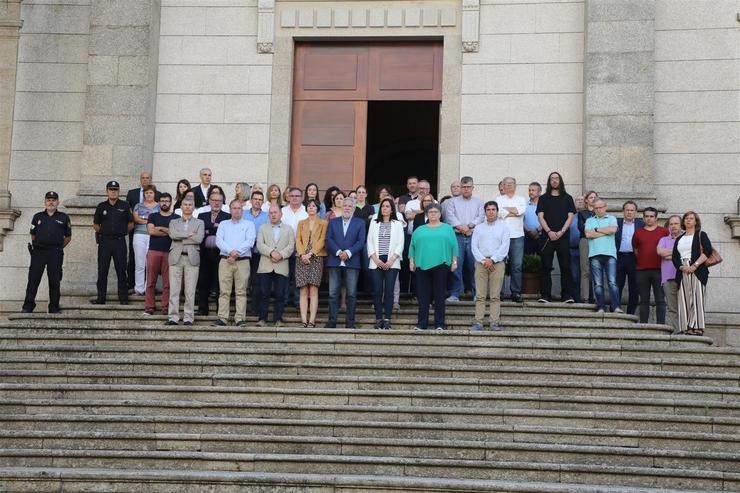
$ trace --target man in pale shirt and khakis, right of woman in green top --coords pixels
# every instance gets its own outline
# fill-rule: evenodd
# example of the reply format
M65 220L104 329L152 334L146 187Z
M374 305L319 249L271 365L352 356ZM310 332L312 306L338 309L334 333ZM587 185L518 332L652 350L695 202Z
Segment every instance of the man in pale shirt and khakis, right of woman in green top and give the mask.
M473 231L471 249L475 258L475 320L472 330L481 330L486 313L486 296L491 298L491 330L501 330L501 286L509 253L509 227L498 219L498 204L485 203L486 220Z

